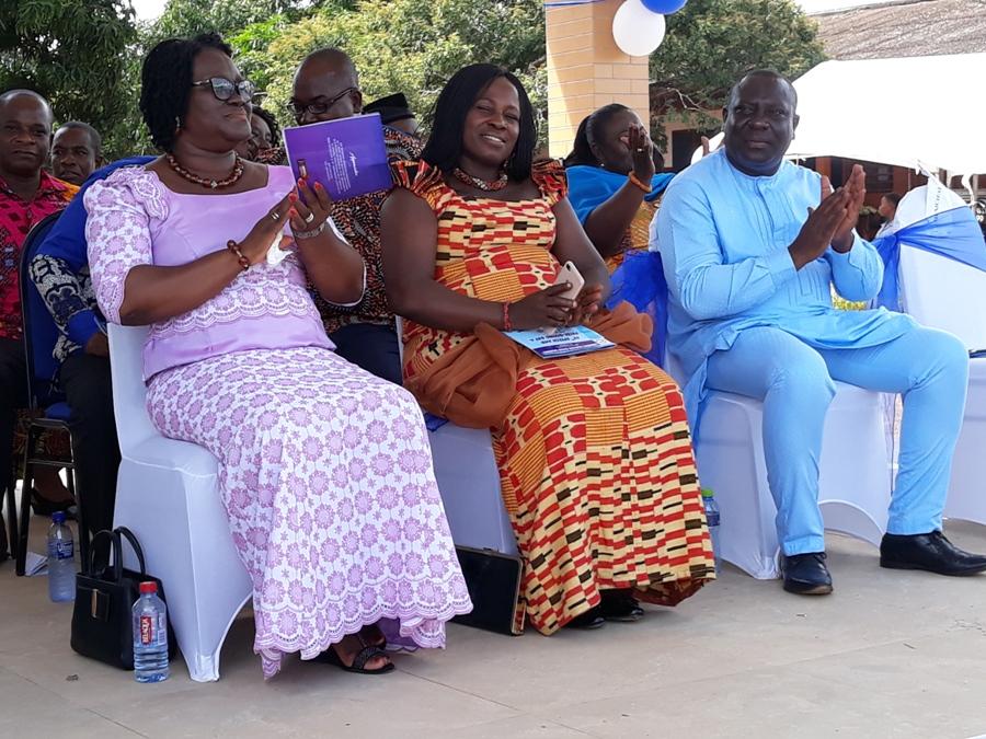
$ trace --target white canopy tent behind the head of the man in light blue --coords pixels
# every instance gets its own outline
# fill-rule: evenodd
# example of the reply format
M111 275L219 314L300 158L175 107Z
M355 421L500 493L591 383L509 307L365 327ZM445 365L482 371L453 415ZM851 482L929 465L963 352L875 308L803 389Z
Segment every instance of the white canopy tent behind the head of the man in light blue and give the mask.
M794 81L801 123L788 157L986 174L984 79L986 54L823 61Z

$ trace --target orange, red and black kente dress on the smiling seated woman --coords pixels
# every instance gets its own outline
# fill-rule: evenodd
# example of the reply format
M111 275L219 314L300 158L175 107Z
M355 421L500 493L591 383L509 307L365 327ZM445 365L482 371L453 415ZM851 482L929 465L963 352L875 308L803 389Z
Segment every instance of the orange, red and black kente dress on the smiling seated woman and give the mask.
M393 165L397 183L438 219L435 279L481 300L517 301L551 285L552 207L564 171L536 165L536 199L463 197L424 162ZM405 324L404 376L467 336ZM670 378L622 347L537 359L493 429L503 499L525 562L518 609L543 634L633 588L674 605L714 578L684 403Z

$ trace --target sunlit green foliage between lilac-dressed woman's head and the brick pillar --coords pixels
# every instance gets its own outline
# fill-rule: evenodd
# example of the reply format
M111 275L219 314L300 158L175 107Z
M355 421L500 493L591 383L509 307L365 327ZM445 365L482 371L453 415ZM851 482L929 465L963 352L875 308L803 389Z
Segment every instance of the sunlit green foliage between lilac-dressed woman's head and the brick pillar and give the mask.
M511 69L535 107L547 108L544 15L538 0L326 3L294 23L280 18L249 26L231 42L244 70L268 92L264 105L278 115L298 62L324 46L353 57L367 101L403 92L425 120L448 78L475 61ZM257 42L266 42L266 49Z

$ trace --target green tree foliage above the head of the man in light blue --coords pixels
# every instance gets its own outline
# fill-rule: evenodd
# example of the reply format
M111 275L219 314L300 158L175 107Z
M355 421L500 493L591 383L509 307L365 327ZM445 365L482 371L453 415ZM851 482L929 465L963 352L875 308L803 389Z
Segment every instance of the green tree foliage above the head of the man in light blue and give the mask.
M695 120L699 108L722 107L750 69L795 78L824 59L817 25L792 0L689 0L667 18L667 36L651 56L652 90L670 92L672 107Z

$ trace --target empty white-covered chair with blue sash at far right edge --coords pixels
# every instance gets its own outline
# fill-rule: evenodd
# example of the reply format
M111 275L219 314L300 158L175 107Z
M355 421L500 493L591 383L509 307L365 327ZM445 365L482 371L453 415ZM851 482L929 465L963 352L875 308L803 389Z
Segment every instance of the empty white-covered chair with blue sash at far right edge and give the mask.
M904 310L919 323L958 336L971 350L986 349L986 273L901 244ZM986 358L968 360L965 418L952 460L944 515L986 523Z

